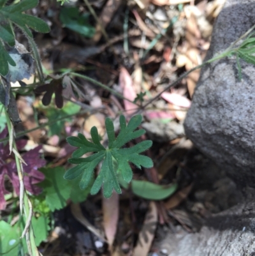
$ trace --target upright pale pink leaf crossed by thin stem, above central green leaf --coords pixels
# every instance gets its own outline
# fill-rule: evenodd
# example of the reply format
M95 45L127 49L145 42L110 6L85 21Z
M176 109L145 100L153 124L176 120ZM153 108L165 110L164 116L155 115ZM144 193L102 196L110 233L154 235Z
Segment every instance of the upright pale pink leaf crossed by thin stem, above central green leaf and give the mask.
M120 68L119 84L123 90L123 96L133 102L136 98L136 92L133 88L133 80L131 75L129 75L128 70L124 67ZM128 100L124 100L124 107L128 114L133 114L136 111L137 106L134 103L128 102Z

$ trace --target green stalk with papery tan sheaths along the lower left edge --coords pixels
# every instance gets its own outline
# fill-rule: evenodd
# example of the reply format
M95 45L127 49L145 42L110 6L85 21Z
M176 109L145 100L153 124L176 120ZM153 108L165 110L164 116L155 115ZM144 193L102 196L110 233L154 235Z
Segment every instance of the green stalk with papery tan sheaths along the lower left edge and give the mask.
M8 116L8 113L5 110L5 115L6 115L6 123L7 123L7 127L8 127L8 132L9 135L13 134L13 126L11 125L11 120L10 117ZM17 145L15 140L13 140L12 142L12 146L13 149L15 149L15 151L17 151ZM36 243L34 240L34 231L33 231L33 226L31 223L31 219L29 220L29 218L31 218L31 211L33 213L33 208L32 208L32 204L27 196L27 192L25 190L25 186L24 186L24 181L23 181L23 173L22 173L22 162L20 160L20 158L18 158L17 154L15 154L15 161L16 161L16 165L17 165L17 172L18 172L18 179L20 181L20 188L21 188L21 195L20 195L20 214L22 215L22 205L24 204L24 213L25 213L25 220L26 220L26 226L29 225L29 228L27 230L27 234L26 234L26 242L27 242L27 248L29 250L29 254L31 256L40 256L40 253L38 252L38 248L36 247ZM24 188L24 194L22 195L22 188ZM29 207L30 205L30 207ZM30 214L29 214L30 213Z

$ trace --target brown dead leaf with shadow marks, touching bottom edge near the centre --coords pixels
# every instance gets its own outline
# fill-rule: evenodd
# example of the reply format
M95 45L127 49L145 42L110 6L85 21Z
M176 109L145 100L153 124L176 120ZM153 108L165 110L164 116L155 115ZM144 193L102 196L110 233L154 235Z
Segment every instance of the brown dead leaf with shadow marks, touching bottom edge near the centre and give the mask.
M149 211L145 216L142 230L138 236L138 244L135 247L133 256L147 256L154 239L157 228L157 207L155 202L150 202Z

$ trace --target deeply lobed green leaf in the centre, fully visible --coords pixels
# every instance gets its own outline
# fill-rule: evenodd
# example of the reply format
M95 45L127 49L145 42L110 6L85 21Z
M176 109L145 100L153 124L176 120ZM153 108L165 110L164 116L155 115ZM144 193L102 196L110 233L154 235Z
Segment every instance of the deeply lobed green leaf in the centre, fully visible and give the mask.
M73 152L72 158L68 162L77 164L77 166L69 169L64 175L65 179L75 179L82 174L80 180L80 188L85 189L89 186L94 175L94 169L103 161L98 177L94 181L91 188L91 194L98 193L103 186L103 195L108 198L112 195L113 189L117 193L121 193L119 182L117 180L117 172L120 172L124 181L130 182L133 172L129 166L129 162L136 167L150 168L153 166L152 160L148 156L140 153L152 146L151 140L144 140L133 147L122 148L130 140L136 139L145 133L145 130L136 130L142 122L142 116L137 115L130 119L128 125L124 116L120 116L120 132L115 138L113 122L110 118L106 118L105 127L108 135L108 148L106 149L101 143L98 135L98 129L94 126L91 128L92 142L89 142L84 135L78 134L78 137L68 137L67 141L71 146L78 147ZM91 156L80 158L82 155L92 152ZM114 164L117 162L117 166Z

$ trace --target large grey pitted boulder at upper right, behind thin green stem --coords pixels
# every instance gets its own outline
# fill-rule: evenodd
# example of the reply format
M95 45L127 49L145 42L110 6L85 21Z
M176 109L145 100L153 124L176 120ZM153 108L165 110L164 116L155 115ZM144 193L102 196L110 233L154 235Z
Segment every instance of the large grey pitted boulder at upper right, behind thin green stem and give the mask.
M255 24L254 0L227 0L217 17L207 59L227 49ZM226 169L238 186L255 186L255 66L235 57L201 69L184 123L187 137Z

